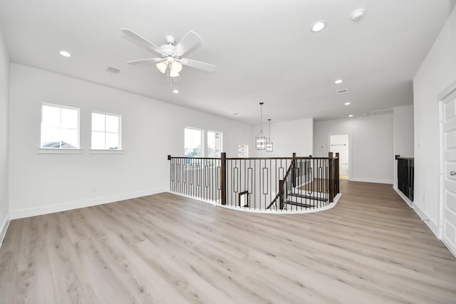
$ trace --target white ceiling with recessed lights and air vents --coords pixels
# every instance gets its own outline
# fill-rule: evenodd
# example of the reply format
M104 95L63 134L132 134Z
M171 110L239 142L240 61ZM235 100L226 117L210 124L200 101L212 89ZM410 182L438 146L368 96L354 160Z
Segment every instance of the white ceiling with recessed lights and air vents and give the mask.
M11 61L120 88L234 120L258 123L373 114L413 103L412 79L454 0L0 0L0 28ZM351 12L366 8L358 23ZM311 33L316 21L326 28ZM155 57L120 33L131 28L157 45L188 31L202 45L185 57L214 73L184 67L174 87ZM63 58L61 50L73 56ZM118 75L105 72L113 66ZM343 83L335 85L341 78ZM336 89L350 93L337 95ZM343 103L351 102L350 106ZM128 100L125 100L128 103ZM239 115L233 115L238 112Z

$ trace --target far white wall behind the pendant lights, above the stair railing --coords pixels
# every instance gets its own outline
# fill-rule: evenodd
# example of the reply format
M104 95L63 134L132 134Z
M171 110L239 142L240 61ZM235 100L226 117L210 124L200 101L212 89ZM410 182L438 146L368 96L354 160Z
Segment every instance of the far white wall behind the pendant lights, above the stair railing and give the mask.
M252 139L259 133L260 126L254 127ZM263 123L263 134L268 137L268 124ZM273 152L255 150L253 144L249 156L252 157L291 157L293 152L297 156L309 156L313 150L314 120L305 118L286 122L271 123L271 142L274 143Z

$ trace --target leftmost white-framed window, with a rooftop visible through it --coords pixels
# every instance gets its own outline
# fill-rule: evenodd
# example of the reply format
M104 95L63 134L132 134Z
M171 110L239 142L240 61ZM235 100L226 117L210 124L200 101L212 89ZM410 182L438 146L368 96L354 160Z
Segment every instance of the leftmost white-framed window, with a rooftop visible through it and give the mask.
M41 105L41 148L79 149L79 109Z

